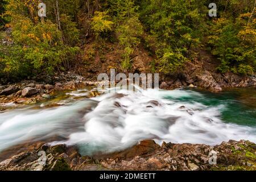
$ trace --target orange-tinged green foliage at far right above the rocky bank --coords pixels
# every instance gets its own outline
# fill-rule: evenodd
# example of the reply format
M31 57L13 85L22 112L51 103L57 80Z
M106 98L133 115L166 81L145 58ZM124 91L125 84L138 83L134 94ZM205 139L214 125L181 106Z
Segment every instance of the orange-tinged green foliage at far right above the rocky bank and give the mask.
M242 14L234 21L225 18L213 21L213 31L208 38L213 55L220 60L218 71L242 75L255 72L256 31L255 23L248 23L248 16Z

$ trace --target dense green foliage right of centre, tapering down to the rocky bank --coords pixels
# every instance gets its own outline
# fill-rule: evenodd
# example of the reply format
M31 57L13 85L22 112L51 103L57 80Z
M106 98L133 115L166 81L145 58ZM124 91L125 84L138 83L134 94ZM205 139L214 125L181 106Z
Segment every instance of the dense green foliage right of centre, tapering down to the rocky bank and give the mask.
M160 71L174 73L185 63L203 36L205 13L202 1L142 1L141 19L148 40L154 40L148 44L158 56Z

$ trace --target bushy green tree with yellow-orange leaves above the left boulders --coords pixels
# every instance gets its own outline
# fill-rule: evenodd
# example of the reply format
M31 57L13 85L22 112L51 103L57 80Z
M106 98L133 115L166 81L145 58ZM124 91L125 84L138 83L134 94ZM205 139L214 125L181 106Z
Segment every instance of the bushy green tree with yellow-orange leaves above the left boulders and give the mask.
M8 76L52 74L56 67L67 66L66 61L74 59L79 51L63 43L61 32L50 20L34 24L28 18L16 19L12 38L14 45L5 49L1 58Z

